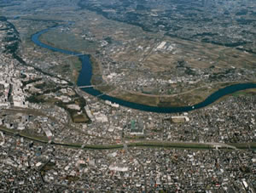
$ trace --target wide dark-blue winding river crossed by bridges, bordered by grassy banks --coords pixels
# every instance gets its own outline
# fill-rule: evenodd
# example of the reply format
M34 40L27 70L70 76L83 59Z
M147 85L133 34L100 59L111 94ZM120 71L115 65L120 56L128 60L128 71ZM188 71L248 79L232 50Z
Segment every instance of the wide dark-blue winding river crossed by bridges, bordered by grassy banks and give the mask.
M92 67L90 63L90 55L86 54L80 54L78 52L69 51L66 49L61 48L55 48L48 44L42 43L39 40L39 37L46 33L47 31L54 29L55 27L49 27L47 29L44 29L42 31L38 31L34 35L32 35L32 42L37 44L41 48L47 48L51 51L60 52L62 54L69 54L79 57L79 60L82 62L82 70L79 73L79 78L77 85L80 86L90 86L90 79L92 77ZM207 105L212 104L214 101L222 98L223 96L227 94L233 94L240 90L245 90L248 88L256 88L255 83L237 83L233 84L231 86L227 86L225 88L221 88L215 93L209 95L207 99L202 101L201 103L198 103L196 105L191 106L182 106L182 107L157 107L157 106L150 106L150 105L141 105L138 103L132 103L129 101L125 101L123 99L118 99L112 96L109 96L108 94L102 94L101 91L96 90L95 88L81 88L85 93L96 96L103 100L109 100L113 103L117 103L119 105L123 105L132 109L137 109L141 111L151 111L151 112L158 112L158 113L176 113L176 112L185 112L185 111L193 111L196 109L203 108Z

